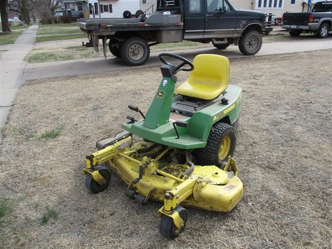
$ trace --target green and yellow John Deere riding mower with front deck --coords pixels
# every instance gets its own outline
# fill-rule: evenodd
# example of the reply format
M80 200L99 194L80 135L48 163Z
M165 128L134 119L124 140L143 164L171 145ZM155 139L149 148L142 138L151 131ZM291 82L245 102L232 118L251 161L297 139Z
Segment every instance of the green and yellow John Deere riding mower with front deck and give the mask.
M180 60L178 65L165 57ZM228 84L226 57L202 54L191 63L174 54L159 59L163 79L146 115L127 116L125 131L97 142L86 157L85 187L93 193L109 184L108 165L128 185L125 195L138 204L164 202L158 210L160 232L174 239L185 228L182 206L228 212L243 196L244 187L231 157L241 109L241 88ZM179 71L191 71L174 92ZM133 142L133 135L141 141ZM181 206L180 206L181 205Z

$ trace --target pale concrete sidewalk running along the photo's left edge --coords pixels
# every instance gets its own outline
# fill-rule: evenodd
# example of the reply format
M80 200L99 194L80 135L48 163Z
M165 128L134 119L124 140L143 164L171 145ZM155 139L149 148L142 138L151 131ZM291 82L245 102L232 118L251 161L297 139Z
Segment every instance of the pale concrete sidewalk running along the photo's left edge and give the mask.
M38 24L31 25L14 44L5 45L9 51L1 53L0 57L0 128L6 123L9 110L14 104L16 92L24 81L22 74L26 63L24 57L33 48L36 41ZM1 133L0 133L1 140Z

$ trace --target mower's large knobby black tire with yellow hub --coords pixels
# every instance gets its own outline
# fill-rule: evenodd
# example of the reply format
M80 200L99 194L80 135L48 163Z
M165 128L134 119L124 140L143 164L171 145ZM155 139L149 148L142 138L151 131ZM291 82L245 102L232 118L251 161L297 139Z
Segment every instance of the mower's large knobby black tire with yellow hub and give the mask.
M208 135L207 145L197 150L197 160L201 165L220 167L228 156L233 155L235 144L234 128L225 123L215 123Z

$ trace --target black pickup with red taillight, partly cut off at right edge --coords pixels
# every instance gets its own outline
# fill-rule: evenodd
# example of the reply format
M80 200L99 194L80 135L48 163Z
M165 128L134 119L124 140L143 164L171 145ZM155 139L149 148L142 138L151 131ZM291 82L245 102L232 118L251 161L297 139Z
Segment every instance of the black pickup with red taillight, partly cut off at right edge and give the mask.
M332 1L316 2L311 12L284 13L282 28L291 36L299 36L302 32L316 33L319 38L329 36L332 27Z

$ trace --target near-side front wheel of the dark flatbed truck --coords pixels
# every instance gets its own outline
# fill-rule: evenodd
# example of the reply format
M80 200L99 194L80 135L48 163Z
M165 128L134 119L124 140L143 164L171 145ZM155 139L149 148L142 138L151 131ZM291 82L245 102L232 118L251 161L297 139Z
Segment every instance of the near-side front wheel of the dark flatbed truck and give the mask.
M257 30L245 31L239 40L239 49L244 55L256 54L262 46L262 36Z

